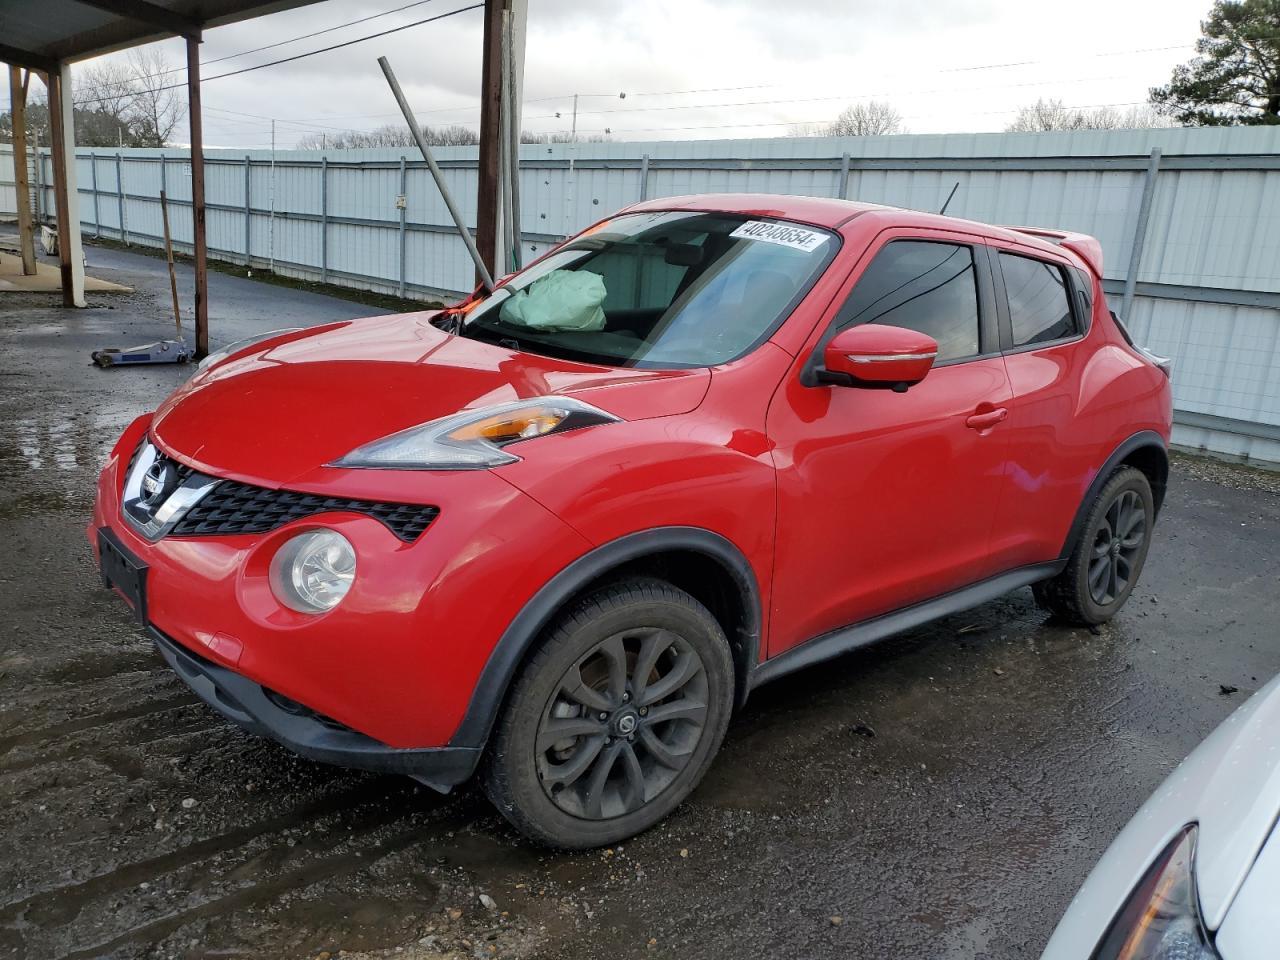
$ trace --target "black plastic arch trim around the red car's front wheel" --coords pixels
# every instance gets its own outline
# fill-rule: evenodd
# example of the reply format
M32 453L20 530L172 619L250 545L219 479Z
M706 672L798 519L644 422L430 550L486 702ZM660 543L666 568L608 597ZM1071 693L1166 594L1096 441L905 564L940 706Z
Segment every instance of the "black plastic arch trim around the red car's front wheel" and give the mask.
M760 594L742 552L710 530L643 530L596 547L552 577L507 626L489 654L451 746L481 748L516 673L547 625L585 590L627 576L658 576L691 594L724 628L733 657L735 704L741 705L760 649Z

